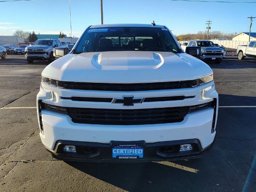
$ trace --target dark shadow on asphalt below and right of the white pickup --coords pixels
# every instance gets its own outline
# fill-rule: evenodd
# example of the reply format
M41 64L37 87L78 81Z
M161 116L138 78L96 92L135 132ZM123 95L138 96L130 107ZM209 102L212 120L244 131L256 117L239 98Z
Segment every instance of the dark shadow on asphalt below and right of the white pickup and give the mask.
M256 97L220 94L220 105L249 105ZM239 102L240 101L240 102ZM66 162L127 191L256 191L256 108L219 108L215 144L205 156L174 162ZM243 134L241 134L243 133ZM236 146L236 147L234 147ZM248 163L249 162L249 163Z

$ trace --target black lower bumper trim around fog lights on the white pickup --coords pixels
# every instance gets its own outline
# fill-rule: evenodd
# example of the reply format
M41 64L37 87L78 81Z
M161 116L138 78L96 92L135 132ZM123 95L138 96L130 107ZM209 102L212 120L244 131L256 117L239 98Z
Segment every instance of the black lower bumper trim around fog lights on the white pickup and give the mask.
M134 143L136 143L134 141ZM165 149L179 148L181 144L191 144L193 150L191 151L166 151ZM76 146L79 151L65 152L63 147L65 145ZM54 150L48 151L54 158L66 161L82 161L82 162L147 162L147 161L167 161L167 160L184 160L191 158L199 158L208 151L213 142L206 148L202 148L198 139L175 140L165 142L146 143L144 145L144 156L138 159L117 159L112 158L111 144L103 144L97 142L79 142L59 140L56 143ZM90 152L84 152L90 149Z

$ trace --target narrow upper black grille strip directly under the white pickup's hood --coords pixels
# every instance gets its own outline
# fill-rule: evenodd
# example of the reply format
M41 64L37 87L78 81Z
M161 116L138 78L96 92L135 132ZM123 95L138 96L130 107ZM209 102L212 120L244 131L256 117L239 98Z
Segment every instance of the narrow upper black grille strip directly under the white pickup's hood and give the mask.
M89 82L64 82L65 89L100 90L100 91L148 91L191 88L192 80L156 83L89 83Z

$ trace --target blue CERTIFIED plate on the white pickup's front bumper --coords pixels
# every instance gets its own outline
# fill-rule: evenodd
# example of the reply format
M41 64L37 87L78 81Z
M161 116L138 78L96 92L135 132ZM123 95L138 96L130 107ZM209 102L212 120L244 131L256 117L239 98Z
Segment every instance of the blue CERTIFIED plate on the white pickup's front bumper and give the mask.
M112 158L140 159L143 158L144 145L142 144L114 144L112 145Z

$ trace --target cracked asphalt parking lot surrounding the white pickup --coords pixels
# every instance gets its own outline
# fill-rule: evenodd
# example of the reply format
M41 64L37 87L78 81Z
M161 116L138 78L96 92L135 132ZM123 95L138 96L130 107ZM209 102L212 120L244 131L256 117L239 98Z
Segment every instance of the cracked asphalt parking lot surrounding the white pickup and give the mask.
M47 64L0 59L0 191L256 191L256 60L231 53L209 63L220 106L213 148L199 159L125 164L51 158L35 108Z

